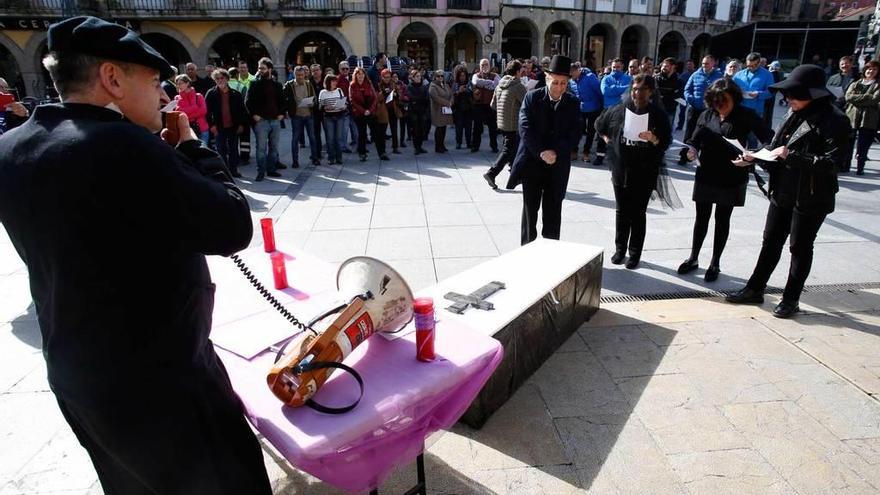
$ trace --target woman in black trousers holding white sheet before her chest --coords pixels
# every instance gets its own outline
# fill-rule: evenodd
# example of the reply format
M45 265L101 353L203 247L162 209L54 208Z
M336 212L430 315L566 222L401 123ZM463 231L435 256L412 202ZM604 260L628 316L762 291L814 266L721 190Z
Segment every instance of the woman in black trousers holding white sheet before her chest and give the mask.
M672 142L669 117L651 103L656 85L646 74L633 77L630 98L606 109L596 121L596 131L608 144L611 180L617 206L614 255L611 262L626 268L639 266L645 244L648 201L657 188L663 156Z

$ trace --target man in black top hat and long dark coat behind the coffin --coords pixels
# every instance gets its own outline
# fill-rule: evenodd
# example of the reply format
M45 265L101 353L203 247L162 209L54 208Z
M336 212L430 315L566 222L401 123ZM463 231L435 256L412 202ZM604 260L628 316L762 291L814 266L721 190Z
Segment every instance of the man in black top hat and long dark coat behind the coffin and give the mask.
M541 236L559 239L571 150L580 138L580 127L574 125L580 118L580 102L566 92L571 59L554 56L545 73L547 86L530 91L520 108L520 143L507 183L507 189L523 185L523 245L538 237L539 208Z

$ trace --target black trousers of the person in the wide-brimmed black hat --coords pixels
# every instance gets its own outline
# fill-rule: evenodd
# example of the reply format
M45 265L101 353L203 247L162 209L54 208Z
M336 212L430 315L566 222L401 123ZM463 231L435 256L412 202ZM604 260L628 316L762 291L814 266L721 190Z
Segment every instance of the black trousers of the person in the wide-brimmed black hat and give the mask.
M758 255L755 271L752 272L746 286L761 291L767 287L767 281L770 280L770 275L779 263L785 239L790 233L791 266L788 270L788 281L785 283L782 299L788 302L800 300L804 283L807 281L807 276L809 276L810 268L813 265L813 243L816 241L819 227L824 221L824 213L799 213L770 203L770 209L767 210L767 223L764 224L764 242L761 245L761 254Z

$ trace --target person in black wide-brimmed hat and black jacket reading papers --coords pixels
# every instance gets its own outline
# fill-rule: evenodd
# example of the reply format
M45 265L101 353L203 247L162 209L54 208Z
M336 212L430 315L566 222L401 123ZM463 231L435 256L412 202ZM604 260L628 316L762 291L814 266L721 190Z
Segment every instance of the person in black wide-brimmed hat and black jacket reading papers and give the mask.
M788 281L773 311L773 316L790 318L799 311L819 227L834 211L837 171L845 167L851 129L849 119L825 89L825 71L820 67L800 65L788 79L770 88L782 93L791 110L770 144L772 159L758 160L770 173L770 208L758 263L746 286L727 296L727 301L764 302L767 281L791 234ZM747 167L755 160L745 154L736 164Z

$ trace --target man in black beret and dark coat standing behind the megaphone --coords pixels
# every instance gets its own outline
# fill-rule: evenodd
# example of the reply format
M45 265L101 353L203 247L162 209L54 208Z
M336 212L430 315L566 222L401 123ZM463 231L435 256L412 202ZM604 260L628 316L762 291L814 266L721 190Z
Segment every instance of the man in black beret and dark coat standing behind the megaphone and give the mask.
M0 222L28 268L48 380L107 494L271 494L211 330L205 255L252 235L247 201L186 115L171 67L94 17L49 29L62 103L0 136Z

